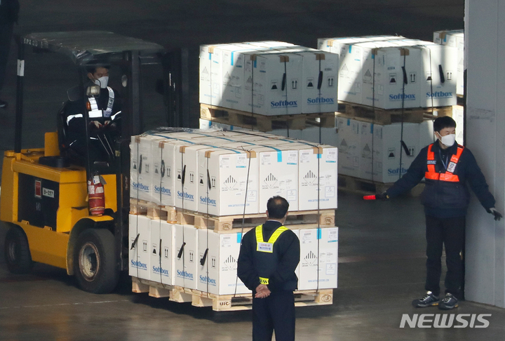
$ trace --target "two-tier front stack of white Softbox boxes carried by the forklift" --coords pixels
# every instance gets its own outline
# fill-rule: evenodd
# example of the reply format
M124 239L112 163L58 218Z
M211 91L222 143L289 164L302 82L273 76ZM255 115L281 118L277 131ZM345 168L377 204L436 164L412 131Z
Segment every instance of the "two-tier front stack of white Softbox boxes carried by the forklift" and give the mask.
M264 213L275 195L290 211L337 208L336 147L210 129L135 136L131 151L134 201L213 216ZM299 289L336 288L337 227L299 228ZM247 293L236 277L241 238L130 215L130 275L217 295Z

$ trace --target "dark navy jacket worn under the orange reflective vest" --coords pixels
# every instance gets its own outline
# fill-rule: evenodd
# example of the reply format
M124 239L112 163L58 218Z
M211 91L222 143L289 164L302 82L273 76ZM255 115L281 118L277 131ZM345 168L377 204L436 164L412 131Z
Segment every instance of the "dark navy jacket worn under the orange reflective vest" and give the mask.
M457 153L457 143L447 149L441 149L438 141L433 143L432 152L435 154L435 170L437 173L445 173L445 163L448 163L451 156ZM426 163L428 157L428 146L424 147L410 165L407 173L386 192L394 197L406 192L424 178L428 171ZM437 180L426 180L426 187L422 194L422 203L426 215L436 218L462 217L466 215L466 208L470 201L470 193L466 184L476 194L478 200L486 210L494 207L494 197L489 192L489 187L482 171L477 165L477 161L468 148L465 148L459 157L459 162L454 170L459 182L443 182Z

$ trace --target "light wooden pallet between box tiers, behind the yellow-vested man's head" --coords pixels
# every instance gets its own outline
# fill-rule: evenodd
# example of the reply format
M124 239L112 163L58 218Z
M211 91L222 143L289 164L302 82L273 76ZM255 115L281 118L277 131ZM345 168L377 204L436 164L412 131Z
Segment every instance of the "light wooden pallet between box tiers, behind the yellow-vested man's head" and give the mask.
M177 224L194 225L198 229L213 229L218 233L231 232L233 229L245 227L247 231L257 225L261 225L267 218L266 213L245 215L226 215L217 217L215 215L206 215L189 210L177 210ZM242 225L242 220L244 224ZM287 227L297 225L307 225L307 228L335 226L335 210L305 210L288 212L288 218L285 221Z

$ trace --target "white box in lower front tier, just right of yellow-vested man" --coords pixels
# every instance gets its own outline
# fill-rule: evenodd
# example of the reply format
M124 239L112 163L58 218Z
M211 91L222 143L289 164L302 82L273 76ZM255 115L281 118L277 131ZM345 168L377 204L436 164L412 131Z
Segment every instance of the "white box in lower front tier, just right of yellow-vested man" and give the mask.
M338 227L300 229L299 290L337 288Z

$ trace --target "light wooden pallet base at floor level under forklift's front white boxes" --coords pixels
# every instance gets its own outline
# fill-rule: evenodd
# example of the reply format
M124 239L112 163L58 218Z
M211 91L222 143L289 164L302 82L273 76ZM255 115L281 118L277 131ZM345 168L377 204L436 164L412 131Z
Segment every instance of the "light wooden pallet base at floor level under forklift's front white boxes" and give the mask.
M212 307L216 312L233 312L253 308L251 293L237 295L215 295L200 290L168 286L166 284L132 277L133 293L149 293L149 296L168 297L173 302L191 302L194 307ZM295 291L295 307L332 305L333 289Z

